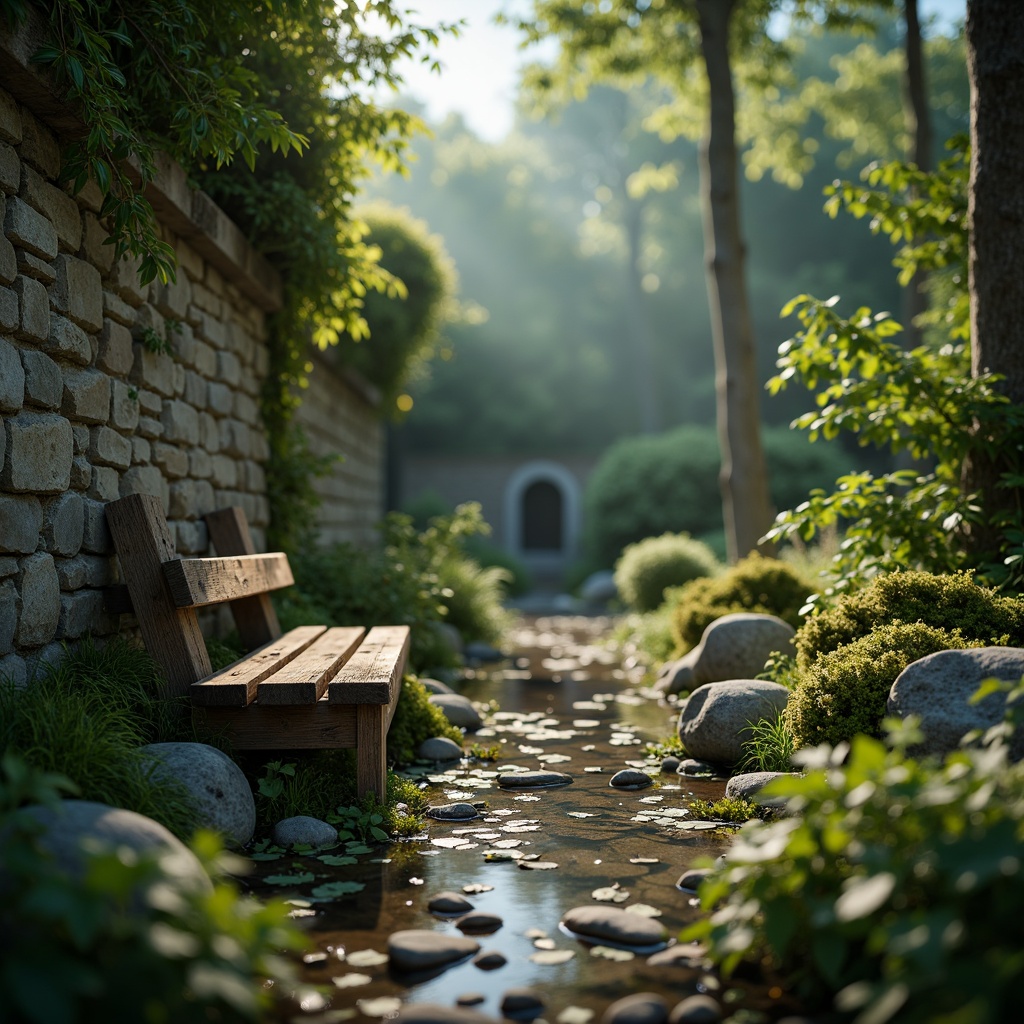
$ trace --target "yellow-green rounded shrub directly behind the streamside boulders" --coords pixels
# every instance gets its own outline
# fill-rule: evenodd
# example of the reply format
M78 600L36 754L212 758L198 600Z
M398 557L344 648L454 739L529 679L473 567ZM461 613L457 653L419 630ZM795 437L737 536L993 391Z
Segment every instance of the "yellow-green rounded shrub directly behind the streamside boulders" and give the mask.
M796 629L803 622L800 609L813 590L814 585L792 565L755 552L721 575L694 580L673 595L677 647L682 652L695 647L716 618L734 611L778 615Z

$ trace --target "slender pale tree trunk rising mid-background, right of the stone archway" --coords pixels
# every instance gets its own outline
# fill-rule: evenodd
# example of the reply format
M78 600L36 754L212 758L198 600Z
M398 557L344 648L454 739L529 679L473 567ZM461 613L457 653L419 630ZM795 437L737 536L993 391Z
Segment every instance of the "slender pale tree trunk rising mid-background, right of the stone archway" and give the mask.
M735 0L696 0L711 103L708 131L700 143L700 198L715 343L722 511L730 562L758 547L773 518L761 447L761 382L739 230L735 95L729 61L734 7Z

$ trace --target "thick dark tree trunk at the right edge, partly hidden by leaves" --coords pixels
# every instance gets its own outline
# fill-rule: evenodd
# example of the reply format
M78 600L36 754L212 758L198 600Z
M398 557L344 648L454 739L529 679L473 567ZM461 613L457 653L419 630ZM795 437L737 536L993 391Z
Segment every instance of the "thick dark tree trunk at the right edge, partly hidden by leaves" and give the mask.
M991 372L1015 404L1024 403L1024 4L968 0L971 79L971 184L968 200L971 294L971 372ZM977 455L964 467L964 484L981 495L986 519L1016 504L998 488L1008 467ZM970 539L992 554L984 527Z

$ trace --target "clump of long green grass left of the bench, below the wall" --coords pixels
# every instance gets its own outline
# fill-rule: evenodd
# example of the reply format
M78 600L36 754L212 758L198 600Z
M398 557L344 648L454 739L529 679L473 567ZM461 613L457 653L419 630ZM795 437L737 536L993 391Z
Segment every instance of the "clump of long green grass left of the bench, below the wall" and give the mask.
M137 811L181 839L195 828L185 791L152 774L138 749L195 740L187 700L157 697L160 670L124 639L83 642L19 689L0 681L0 749L65 775L83 800Z

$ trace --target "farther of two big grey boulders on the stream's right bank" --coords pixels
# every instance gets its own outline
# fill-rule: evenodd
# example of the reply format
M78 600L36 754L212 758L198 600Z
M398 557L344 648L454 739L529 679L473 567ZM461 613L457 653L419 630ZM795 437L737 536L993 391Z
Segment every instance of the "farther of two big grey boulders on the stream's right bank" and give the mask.
M693 650L663 669L655 687L680 693L705 683L751 679L774 651L790 651L794 636L796 630L776 615L753 611L722 615L703 631Z

